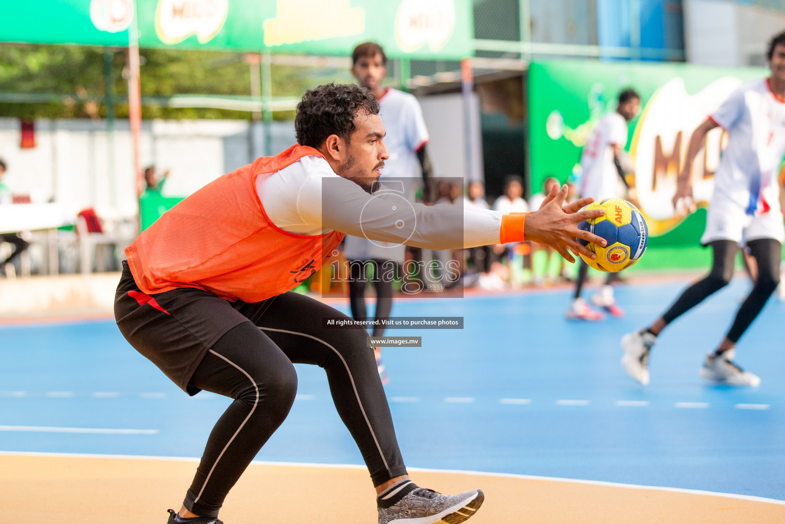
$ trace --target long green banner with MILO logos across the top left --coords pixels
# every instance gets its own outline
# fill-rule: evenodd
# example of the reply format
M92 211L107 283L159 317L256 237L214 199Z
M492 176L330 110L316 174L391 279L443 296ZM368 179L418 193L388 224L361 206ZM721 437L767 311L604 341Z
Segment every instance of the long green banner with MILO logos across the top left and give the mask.
M469 0L137 0L141 47L346 56L374 41L393 58L472 53ZM133 0L0 6L0 42L128 45Z

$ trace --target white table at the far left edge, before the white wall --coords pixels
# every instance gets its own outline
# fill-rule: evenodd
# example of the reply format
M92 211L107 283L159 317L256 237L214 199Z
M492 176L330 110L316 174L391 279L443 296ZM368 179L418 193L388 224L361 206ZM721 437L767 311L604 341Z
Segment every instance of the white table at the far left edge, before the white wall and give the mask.
M57 275L57 227L74 224L75 217L57 203L0 206L0 234L49 230L49 274Z

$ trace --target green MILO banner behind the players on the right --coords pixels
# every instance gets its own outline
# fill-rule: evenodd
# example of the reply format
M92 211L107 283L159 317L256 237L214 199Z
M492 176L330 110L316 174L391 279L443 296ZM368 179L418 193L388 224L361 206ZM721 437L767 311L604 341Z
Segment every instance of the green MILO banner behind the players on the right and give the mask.
M674 216L676 191L692 131L742 82L767 76L762 68L701 67L690 64L602 63L553 60L531 64L528 75L531 188L547 176L566 181L580 176L577 165L594 124L615 111L619 93L641 95L641 115L630 122L626 149L635 172L641 211L652 245L694 244L705 213ZM726 136L726 135L725 135ZM707 136L693 169L694 191L705 207L714 189L714 171L725 146L722 129Z

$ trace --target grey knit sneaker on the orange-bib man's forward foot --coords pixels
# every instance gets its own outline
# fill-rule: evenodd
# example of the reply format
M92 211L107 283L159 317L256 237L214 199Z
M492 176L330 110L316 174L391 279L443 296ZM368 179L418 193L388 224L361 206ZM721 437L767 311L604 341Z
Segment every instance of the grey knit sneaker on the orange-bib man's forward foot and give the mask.
M474 515L485 499L480 489L442 495L432 489L415 488L389 508L382 508L384 499L380 500L379 524L459 524Z

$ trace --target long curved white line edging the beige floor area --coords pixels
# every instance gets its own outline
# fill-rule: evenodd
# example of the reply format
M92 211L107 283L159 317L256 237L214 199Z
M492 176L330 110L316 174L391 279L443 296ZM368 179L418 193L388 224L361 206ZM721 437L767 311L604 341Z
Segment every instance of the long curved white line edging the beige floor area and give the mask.
M121 459L121 460L171 460L175 462L199 462L196 457L155 457L152 455L108 455L98 453L46 453L38 451L0 451L0 455L11 455L19 457L64 457L64 458L98 458L98 459ZM335 469L367 469L362 464L315 464L309 462L272 462L268 460L253 460L251 464L261 466L287 466L292 468L335 468ZM693 495L706 495L708 497L725 497L737 500L751 500L753 502L765 502L768 504L779 504L785 506L785 500L770 499L766 497L755 497L754 495L739 495L736 493L721 493L706 491L703 489L670 488L666 486L643 486L641 484L624 484L622 482L605 482L602 480L584 479L564 479L561 477L543 477L539 475L519 475L517 473L492 473L489 471L471 471L459 469L433 469L433 468L411 468L407 471L419 471L422 473L448 473L451 475L473 475L480 477L499 477L503 479L526 479L526 480L546 480L552 482L569 482L571 484L585 484L588 486L608 486L628 489L651 489L653 491L668 491L670 493L691 493Z

